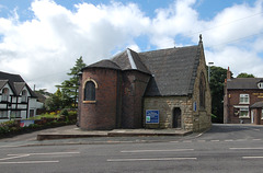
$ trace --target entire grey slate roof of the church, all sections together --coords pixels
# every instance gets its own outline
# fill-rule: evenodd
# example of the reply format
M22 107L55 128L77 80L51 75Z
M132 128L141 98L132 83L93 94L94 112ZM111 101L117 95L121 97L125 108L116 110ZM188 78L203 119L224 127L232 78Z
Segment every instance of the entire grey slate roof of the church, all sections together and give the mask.
M99 61L85 68L119 68L151 74L146 96L188 95L193 93L202 50L202 41L196 46L146 53L136 53L127 48L110 60Z

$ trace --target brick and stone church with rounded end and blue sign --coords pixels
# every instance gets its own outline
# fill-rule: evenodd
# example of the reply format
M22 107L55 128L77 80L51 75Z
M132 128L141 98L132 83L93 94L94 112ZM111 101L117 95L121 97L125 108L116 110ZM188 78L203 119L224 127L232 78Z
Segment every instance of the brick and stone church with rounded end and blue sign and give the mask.
M129 48L82 69L82 129L210 127L210 90L202 37L196 46Z

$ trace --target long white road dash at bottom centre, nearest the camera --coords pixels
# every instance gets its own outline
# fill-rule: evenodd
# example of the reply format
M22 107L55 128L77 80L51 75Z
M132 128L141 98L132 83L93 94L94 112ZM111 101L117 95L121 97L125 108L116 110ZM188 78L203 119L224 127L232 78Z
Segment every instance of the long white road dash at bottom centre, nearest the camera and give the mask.
M138 158L138 159L107 159L107 162L134 162L134 161L174 161L196 160L197 158Z

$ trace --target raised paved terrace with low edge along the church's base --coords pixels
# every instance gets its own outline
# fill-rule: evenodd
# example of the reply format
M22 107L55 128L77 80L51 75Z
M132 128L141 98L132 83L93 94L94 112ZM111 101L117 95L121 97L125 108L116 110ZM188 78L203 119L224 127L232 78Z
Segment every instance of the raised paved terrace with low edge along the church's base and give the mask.
M186 136L192 131L182 129L113 129L113 130L82 130L77 126L50 128L37 134L37 140L90 138L90 137L142 137L142 136Z

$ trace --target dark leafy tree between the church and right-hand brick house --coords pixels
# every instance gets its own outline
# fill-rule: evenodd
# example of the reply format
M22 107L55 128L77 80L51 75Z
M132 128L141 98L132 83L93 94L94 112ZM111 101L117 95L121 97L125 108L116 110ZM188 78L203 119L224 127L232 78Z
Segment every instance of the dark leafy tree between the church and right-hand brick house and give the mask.
M232 73L231 73L232 76ZM227 69L221 67L210 67L210 91L211 91L211 114L214 123L224 122L224 85L227 79Z

